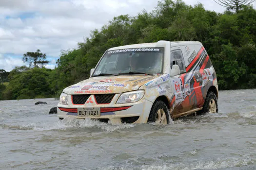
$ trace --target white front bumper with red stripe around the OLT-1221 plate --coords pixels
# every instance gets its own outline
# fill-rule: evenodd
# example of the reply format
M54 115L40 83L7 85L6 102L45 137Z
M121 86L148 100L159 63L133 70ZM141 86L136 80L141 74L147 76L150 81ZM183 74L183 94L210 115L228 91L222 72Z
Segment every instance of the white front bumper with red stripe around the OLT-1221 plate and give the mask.
M112 124L120 124L122 118L138 117L133 123L146 123L153 102L141 99L134 103L125 104L99 104L93 107L100 107L100 116L81 117L78 116L77 108L88 107L86 105L63 105L58 104L59 118L76 118L76 119L109 119Z

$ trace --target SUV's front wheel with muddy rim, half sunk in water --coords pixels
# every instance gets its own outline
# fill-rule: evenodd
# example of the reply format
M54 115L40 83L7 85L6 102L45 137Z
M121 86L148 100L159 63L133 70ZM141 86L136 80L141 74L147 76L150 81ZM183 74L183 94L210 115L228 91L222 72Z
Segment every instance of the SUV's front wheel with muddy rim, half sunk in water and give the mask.
M163 101L154 102L148 122L155 122L156 124L169 124L170 123L170 112Z

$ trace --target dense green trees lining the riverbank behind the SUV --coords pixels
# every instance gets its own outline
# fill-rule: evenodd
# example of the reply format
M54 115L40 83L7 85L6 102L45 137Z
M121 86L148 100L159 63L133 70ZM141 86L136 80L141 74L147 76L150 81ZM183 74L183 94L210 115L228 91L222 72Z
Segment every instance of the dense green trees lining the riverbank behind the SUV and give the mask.
M256 88L256 10L252 6L216 13L201 3L161 0L151 12L114 17L100 30L91 31L77 49L61 51L55 69L44 68L44 54L38 63L30 60L31 53L24 54L22 60L31 67L6 73L9 83L0 84L0 100L59 97L63 88L87 79L107 49L158 40L202 42L217 72L219 90Z

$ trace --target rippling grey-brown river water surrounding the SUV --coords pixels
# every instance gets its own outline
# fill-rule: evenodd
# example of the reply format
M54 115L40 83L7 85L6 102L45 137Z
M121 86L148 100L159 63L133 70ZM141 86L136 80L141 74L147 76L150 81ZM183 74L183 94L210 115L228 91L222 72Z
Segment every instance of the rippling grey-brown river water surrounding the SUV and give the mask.
M0 169L256 169L256 89L220 91L219 113L167 126L60 121L57 103L0 101Z

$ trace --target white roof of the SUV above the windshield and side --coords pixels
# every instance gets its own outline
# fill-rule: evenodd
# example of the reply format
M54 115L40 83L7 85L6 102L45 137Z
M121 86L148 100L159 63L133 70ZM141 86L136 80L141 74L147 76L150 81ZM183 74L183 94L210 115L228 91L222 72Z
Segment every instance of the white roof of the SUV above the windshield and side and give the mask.
M172 47L184 46L184 45L200 45L200 46L202 45L199 41L158 41L158 42L161 42L161 44L166 44L167 42L171 42ZM133 49L133 48L154 48L154 47L156 47L158 42L142 43L142 44L131 44L131 45L113 47L113 48L110 48L108 50ZM164 46L162 46L162 47L164 47Z

